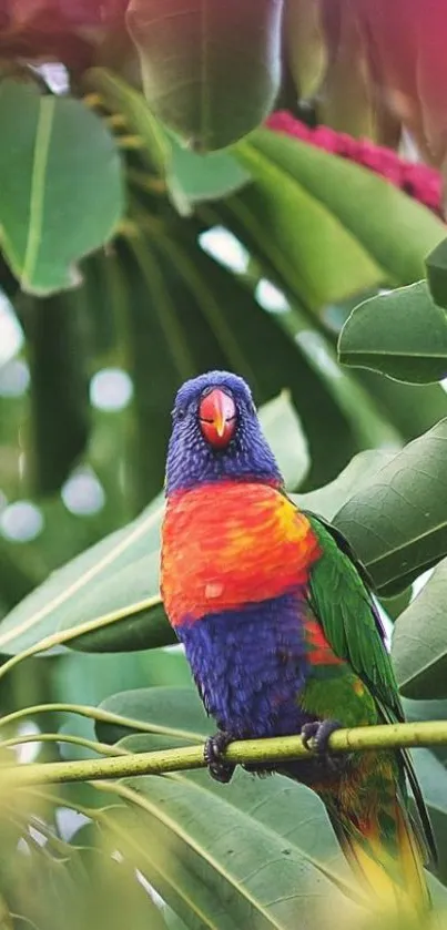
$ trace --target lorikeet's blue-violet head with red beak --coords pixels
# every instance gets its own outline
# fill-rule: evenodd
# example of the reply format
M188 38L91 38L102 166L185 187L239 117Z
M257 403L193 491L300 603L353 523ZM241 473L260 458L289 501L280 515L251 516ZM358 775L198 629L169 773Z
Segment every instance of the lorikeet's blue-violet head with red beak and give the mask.
M166 492L222 479L282 484L248 386L230 371L209 371L180 388L172 413Z

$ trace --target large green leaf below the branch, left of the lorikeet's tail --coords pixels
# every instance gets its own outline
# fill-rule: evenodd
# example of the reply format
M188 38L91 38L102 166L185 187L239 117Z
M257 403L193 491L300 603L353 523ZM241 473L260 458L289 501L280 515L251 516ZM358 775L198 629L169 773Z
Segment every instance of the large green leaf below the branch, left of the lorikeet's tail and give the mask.
M250 801L252 806L262 803L262 791L256 793L256 801L252 795L241 810L227 803L226 793L217 795L203 788L204 778L206 775L175 780L143 776L126 779L124 787L133 793L126 799L138 806L141 821L156 838L159 850L169 850L173 863L199 875L211 891L212 910L206 917L214 920L214 926L222 930L248 926L256 930L295 930L297 913L304 926L317 924L328 900L332 907L348 909L348 900L336 886L337 873L326 866L328 831L323 831L321 860L315 861L293 840L283 839L251 816ZM235 778L228 795L237 790L237 781L243 778ZM294 788L289 828L293 825L295 835L299 835L299 822L315 819L316 799L301 786L287 786L291 794ZM355 888L354 879L352 885ZM345 887L349 889L347 882ZM165 897L164 882L158 890ZM166 900L172 907L177 903L171 896ZM180 916L187 919L185 912L180 911Z

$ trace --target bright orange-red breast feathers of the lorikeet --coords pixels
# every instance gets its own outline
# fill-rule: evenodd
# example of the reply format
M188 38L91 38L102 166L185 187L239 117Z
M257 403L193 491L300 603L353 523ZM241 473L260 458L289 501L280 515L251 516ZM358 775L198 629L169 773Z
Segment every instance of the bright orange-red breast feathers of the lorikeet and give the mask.
M162 529L161 591L173 626L305 584L318 558L307 518L266 484L222 482L173 494Z

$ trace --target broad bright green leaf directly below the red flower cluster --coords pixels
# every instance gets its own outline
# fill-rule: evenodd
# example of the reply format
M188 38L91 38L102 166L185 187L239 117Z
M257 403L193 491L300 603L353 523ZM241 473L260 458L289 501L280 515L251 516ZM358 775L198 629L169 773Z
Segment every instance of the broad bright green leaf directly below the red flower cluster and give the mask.
M262 243L265 226L274 229L281 255L272 244L272 259L295 293L306 287L311 306L421 278L427 252L445 236L444 224L393 184L283 133L258 130L235 152L255 181L243 194L260 223L252 233Z

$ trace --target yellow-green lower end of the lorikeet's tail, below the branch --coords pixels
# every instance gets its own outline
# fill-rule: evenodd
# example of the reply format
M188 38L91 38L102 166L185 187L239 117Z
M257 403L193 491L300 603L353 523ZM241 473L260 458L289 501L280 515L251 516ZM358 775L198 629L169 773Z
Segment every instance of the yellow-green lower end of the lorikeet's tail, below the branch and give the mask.
M404 804L396 798L374 820L360 821L339 809L332 819L346 858L380 908L427 914L431 902L425 849Z

